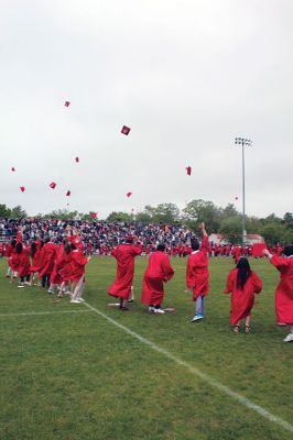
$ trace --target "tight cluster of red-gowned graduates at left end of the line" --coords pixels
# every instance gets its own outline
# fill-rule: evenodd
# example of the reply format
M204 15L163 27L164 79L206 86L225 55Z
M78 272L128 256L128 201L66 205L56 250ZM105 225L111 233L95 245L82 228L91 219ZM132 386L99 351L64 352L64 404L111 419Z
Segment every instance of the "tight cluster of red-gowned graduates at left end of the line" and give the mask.
M22 233L12 240L6 251L8 257L8 273L10 282L19 278L18 287L33 286L35 276L36 285L47 288L53 294L58 288L58 297L63 293L70 295L70 302L83 302L85 288L85 266L90 260L84 255L84 244L77 231L70 231L58 245L50 237L37 239L31 246L22 243ZM69 290L70 283L70 290Z

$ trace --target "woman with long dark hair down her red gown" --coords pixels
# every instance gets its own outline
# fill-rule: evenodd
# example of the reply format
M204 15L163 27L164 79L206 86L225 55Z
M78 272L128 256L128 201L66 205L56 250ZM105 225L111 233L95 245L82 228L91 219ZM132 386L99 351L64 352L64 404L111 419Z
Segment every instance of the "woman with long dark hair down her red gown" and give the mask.
M250 332L250 311L254 304L254 294L259 294L261 289L261 279L251 271L248 260L240 257L236 268L229 273L225 288L225 294L231 293L231 324L236 333L239 333L241 319L245 319L245 332Z

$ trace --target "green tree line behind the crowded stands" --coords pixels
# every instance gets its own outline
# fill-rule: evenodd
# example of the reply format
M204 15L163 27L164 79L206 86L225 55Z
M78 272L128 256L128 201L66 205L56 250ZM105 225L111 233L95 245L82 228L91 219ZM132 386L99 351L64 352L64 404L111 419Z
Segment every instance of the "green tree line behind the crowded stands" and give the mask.
M6 205L0 205L0 218L25 218L26 212L20 207L12 209ZM34 216L40 219L61 219L61 220L93 220L89 213L59 209L46 215ZM106 221L108 222L140 222L166 223L182 226L192 231L197 231L198 224L204 221L208 233L215 232L223 234L230 243L241 243L242 238L242 215L236 209L234 204L228 204L225 208L217 207L213 201L196 199L188 202L185 208L180 210L175 204L160 204L158 206L146 205L143 210L137 213L123 211L111 212ZM293 243L293 213L285 212L278 217L274 213L265 218L248 216L246 218L247 233L259 233L267 243L274 245Z

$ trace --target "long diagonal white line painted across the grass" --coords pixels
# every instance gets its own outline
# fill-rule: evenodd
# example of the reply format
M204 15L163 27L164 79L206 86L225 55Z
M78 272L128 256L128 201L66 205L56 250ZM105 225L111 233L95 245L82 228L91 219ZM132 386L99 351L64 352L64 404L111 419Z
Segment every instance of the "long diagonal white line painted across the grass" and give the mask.
M111 322L113 326L118 327L120 330L124 331L126 333L132 336L133 338L138 339L141 343L144 345L150 346L152 350L156 351L158 353L163 354L165 358L170 359L171 361L174 361L176 364L185 367L192 374L195 376L199 377L202 381L206 382L208 385L210 385L214 388L219 389L227 396L234 398L237 400L239 404L246 406L249 409L252 409L254 413L258 413L260 416L265 418L267 420L270 420L279 426L281 426L283 429L286 431L293 432L293 426L290 425L287 421L281 419L278 416L274 416L273 414L269 413L267 409L262 408L261 406L254 404L252 400L248 399L247 397L241 396L241 394L238 394L230 389L228 386L223 385L220 382L216 381L215 378L208 376L207 374L203 373L200 370L196 369L195 366L188 364L185 361L182 361L180 358L175 356L174 354L170 353L167 350L161 348L160 345L156 345L149 339L145 339L141 337L139 333L135 333L134 331L130 330L128 327L122 326L121 323L117 322L115 319L108 317L104 312L99 311L95 307L90 306L88 302L84 302L86 307L88 307L90 310L95 311L97 315L100 317L107 319L109 322Z

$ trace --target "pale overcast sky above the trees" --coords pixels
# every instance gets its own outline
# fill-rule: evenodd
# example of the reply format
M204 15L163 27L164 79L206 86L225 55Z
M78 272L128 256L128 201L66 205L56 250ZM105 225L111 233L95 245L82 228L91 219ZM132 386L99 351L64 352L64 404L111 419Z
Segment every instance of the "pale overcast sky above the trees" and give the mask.
M293 211L292 0L0 6L1 204L101 218L199 198L241 210L243 136L247 213Z

